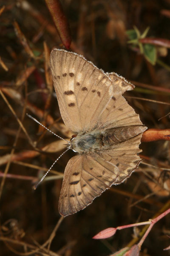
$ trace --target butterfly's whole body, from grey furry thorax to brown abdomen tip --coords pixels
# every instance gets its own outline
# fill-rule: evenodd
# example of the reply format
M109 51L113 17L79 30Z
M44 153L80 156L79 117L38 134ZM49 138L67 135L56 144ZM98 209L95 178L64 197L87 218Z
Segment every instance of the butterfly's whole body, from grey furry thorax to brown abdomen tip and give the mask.
M103 131L94 130L89 133L80 132L77 137L71 139L71 149L79 154L111 149L142 133L144 129L144 126L138 125L116 127Z

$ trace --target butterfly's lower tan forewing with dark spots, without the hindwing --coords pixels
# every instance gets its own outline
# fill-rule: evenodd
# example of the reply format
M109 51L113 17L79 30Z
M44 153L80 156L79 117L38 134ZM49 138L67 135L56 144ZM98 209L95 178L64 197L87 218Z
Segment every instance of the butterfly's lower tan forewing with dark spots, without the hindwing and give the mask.
M84 209L116 182L119 169L97 154L72 157L65 168L59 213L67 216Z

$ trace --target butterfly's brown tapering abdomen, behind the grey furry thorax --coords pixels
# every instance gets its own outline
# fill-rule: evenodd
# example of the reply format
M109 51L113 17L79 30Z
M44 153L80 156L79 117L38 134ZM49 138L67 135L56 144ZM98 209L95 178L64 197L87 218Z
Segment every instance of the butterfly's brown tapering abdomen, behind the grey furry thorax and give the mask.
M124 126L118 128L111 128L102 131L102 141L105 146L119 144L128 139L135 137L145 130L144 126Z

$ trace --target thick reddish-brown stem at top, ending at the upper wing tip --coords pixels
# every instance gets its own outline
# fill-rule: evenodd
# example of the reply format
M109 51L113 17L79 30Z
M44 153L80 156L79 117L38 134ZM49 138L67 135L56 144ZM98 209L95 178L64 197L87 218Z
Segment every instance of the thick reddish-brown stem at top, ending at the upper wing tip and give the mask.
M62 5L59 0L45 0L45 2L53 18L62 43L68 49L71 45L71 33Z

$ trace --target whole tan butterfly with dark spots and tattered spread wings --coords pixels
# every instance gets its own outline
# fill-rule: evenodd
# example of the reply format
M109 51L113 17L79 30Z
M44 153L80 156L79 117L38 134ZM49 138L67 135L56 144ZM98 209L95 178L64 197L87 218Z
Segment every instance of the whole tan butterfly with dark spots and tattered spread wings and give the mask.
M66 165L59 197L67 216L132 174L147 127L122 97L134 88L123 77L62 49L51 52L50 67L62 119L75 134L69 147L78 153Z

